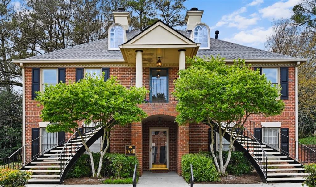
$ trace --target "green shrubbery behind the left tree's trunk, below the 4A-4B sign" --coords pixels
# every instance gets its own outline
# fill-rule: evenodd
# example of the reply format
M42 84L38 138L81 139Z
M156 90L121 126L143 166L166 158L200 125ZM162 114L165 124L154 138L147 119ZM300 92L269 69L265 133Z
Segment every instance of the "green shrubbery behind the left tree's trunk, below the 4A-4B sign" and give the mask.
M94 168L98 169L100 161L100 153L93 153ZM103 158L101 176L113 178L132 177L135 164L139 165L135 156L125 156L117 153L106 153ZM91 177L90 156L83 154L71 167L67 174L67 178Z

